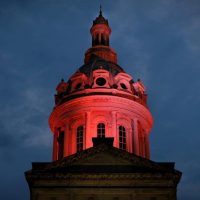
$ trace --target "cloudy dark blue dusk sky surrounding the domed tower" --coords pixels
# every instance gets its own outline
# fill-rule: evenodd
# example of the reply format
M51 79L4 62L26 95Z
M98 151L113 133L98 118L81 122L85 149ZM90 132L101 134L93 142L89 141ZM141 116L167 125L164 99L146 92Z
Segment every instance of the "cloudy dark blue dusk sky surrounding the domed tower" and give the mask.
M51 161L48 117L61 78L83 64L102 4L118 63L147 87L151 159L200 199L199 0L0 0L0 199L29 199L24 171Z

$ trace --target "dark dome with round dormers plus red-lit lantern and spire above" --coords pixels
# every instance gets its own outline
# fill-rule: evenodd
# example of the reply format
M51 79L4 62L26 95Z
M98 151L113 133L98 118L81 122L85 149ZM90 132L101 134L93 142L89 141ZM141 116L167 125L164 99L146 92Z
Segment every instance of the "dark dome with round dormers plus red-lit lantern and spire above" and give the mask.
M56 88L55 104L93 95L109 95L131 99L146 106L147 95L141 81L134 82L117 64L117 54L109 45L111 29L102 15L93 21L90 29L92 47L85 52L84 64Z

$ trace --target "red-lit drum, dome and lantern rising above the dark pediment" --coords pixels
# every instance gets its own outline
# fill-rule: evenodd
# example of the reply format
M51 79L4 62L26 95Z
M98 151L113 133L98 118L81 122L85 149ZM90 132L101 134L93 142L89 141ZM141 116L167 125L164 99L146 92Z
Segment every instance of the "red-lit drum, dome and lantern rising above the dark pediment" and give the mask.
M92 138L99 136L99 124L104 126L104 135L99 137L113 137L114 147L149 159L153 119L145 87L117 64L117 54L109 46L111 29L101 12L90 32L92 47L85 53L84 65L56 88L49 118L53 160L80 151L80 127L82 150L92 147Z

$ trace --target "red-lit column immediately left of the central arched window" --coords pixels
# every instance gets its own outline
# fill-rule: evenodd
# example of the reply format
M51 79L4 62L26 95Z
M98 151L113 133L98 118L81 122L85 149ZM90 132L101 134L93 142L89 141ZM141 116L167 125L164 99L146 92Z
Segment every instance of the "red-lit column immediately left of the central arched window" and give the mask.
M91 115L91 112L90 111L87 111L86 112L86 127L85 127L85 135L84 135L84 143L85 145L83 145L83 149L86 149L86 148L89 148L89 147L92 147L92 138L91 138L91 128L90 128L90 125L91 125L91 122L90 122L90 115Z

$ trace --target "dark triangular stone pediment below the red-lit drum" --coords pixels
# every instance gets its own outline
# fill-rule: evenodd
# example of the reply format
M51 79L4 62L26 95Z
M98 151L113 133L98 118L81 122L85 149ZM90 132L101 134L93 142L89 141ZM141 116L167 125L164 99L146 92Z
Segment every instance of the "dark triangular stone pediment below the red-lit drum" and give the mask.
M50 163L46 169L66 171L126 171L126 172L172 172L173 163L156 163L135 154L105 144L89 148L62 160Z

